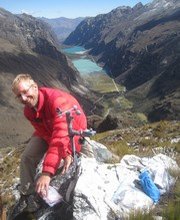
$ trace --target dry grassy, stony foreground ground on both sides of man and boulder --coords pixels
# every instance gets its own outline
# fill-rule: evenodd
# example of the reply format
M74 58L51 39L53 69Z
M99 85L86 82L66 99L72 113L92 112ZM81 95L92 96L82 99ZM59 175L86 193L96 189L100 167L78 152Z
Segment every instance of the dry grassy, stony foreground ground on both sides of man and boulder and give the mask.
M134 154L140 157L151 157L163 153L180 161L180 123L177 121L162 121L159 123L147 124L141 127L129 127L99 133L93 137L96 141L105 144L108 149L120 158L126 154ZM19 157L25 144L18 147L1 148L0 151L0 192L3 206L7 209L13 204L15 195L12 194L13 187L19 179ZM114 163L117 161L107 161ZM16 166L14 166L16 164ZM180 166L180 164L179 164ZM176 177L176 184L168 195L161 198L160 203L148 214L147 219L153 219L151 215L169 216L177 215L177 207L180 202L180 174L172 173ZM179 208L178 208L179 210ZM170 214L169 214L170 213ZM139 214L140 215L140 214ZM144 218L132 218L144 219ZM169 219L169 218L166 218ZM178 219L178 218L173 218Z

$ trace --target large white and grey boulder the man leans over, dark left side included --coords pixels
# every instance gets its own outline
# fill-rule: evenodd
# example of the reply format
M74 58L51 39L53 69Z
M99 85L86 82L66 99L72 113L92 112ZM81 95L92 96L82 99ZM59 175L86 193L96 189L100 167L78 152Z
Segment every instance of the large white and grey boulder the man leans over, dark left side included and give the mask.
M152 158L126 155L120 163L105 164L112 154L105 146L90 143L95 157L79 157L66 175L58 173L52 179L51 185L63 196L63 201L42 208L35 214L36 219L109 220L128 217L137 210L149 211L154 204L139 185L139 167L149 170L161 194L174 184L167 170L179 167L166 155Z

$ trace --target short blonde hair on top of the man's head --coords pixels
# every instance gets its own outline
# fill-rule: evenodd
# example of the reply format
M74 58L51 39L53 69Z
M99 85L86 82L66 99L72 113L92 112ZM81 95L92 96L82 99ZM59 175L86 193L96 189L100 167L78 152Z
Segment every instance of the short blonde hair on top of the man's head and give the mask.
M22 81L29 81L29 83L31 83L32 85L37 85L35 81L33 80L33 78L31 77L31 75L22 73L22 74L17 75L12 83L11 88L13 92L17 90L19 83Z

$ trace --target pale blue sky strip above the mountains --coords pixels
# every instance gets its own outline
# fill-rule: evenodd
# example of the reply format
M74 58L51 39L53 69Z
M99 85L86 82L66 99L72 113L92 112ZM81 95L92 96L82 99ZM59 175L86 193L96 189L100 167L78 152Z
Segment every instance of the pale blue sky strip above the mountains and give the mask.
M77 18L108 13L119 6L133 7L152 0L0 0L0 7L13 14L27 13L34 17Z

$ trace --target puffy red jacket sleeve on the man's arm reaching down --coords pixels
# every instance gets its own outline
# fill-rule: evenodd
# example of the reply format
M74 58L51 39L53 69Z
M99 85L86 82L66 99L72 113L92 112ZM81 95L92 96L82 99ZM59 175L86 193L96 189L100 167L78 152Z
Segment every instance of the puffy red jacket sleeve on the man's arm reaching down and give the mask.
M70 102L68 102L70 103ZM53 132L49 143L49 148L44 159L43 171L54 174L58 169L60 160L65 158L67 154L72 154L70 139L68 135L68 125L66 115L59 116L57 108L61 111L67 110L72 106L68 104L66 99L57 98L51 106L53 113Z

